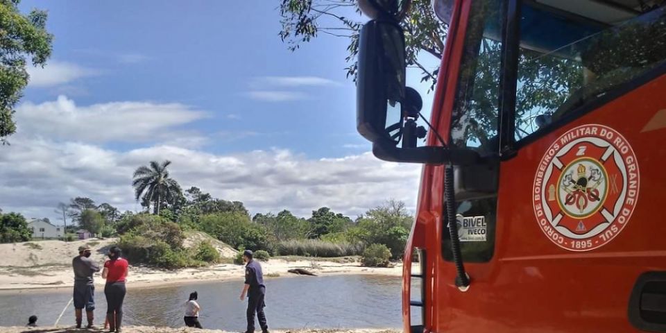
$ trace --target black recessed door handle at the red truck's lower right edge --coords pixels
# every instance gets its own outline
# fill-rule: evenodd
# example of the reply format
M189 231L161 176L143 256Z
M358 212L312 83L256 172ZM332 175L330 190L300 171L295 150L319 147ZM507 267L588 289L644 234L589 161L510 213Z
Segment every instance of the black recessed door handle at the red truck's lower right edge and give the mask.
M629 322L639 330L666 332L666 272L642 273L629 297Z

